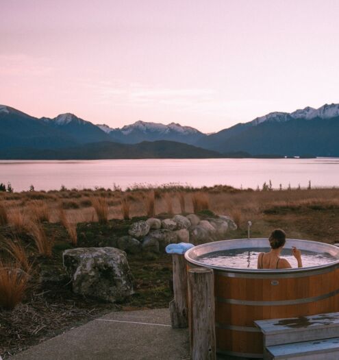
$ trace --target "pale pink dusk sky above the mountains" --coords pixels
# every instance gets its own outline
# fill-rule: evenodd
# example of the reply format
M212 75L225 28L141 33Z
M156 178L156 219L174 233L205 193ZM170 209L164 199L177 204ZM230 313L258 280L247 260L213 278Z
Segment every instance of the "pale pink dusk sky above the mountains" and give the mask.
M337 0L11 0L0 104L228 128L339 102Z

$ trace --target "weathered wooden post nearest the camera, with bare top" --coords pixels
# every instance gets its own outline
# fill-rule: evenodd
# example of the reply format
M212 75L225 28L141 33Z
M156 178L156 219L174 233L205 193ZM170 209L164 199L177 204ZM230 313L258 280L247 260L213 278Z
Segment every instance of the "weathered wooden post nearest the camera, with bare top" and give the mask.
M216 360L214 274L212 269L188 270L191 360Z

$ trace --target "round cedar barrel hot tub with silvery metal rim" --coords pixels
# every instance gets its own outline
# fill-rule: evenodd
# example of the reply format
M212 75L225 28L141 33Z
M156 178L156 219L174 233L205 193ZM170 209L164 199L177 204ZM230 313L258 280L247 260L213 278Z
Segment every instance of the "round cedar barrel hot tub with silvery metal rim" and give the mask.
M284 251L290 254L292 246L301 250L303 258L305 253L312 252L319 256L328 255L329 261L300 269L277 270L228 267L227 259L223 266L200 260L201 256L217 252L241 252L248 248L266 252L268 239L216 241L195 246L186 252L188 268L214 269L218 353L260 359L263 353L262 333L253 324L254 320L339 311L339 248L314 241L286 239ZM258 255L255 257L258 258Z

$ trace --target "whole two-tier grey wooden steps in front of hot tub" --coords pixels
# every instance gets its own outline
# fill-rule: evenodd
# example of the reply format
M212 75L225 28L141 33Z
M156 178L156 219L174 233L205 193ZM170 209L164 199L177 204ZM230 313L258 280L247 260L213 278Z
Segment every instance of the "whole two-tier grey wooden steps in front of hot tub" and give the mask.
M258 320L255 325L264 335L264 359L339 359L339 313Z

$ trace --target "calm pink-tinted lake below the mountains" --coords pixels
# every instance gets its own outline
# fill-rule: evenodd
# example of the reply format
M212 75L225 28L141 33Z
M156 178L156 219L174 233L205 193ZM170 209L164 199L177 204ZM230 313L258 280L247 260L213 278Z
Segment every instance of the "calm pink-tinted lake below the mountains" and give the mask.
M339 158L316 159L147 159L147 160L0 160L0 182L15 191L33 184L36 190L67 188L123 189L136 183L176 182L194 187L227 184L251 187L269 180L284 188L339 186Z

